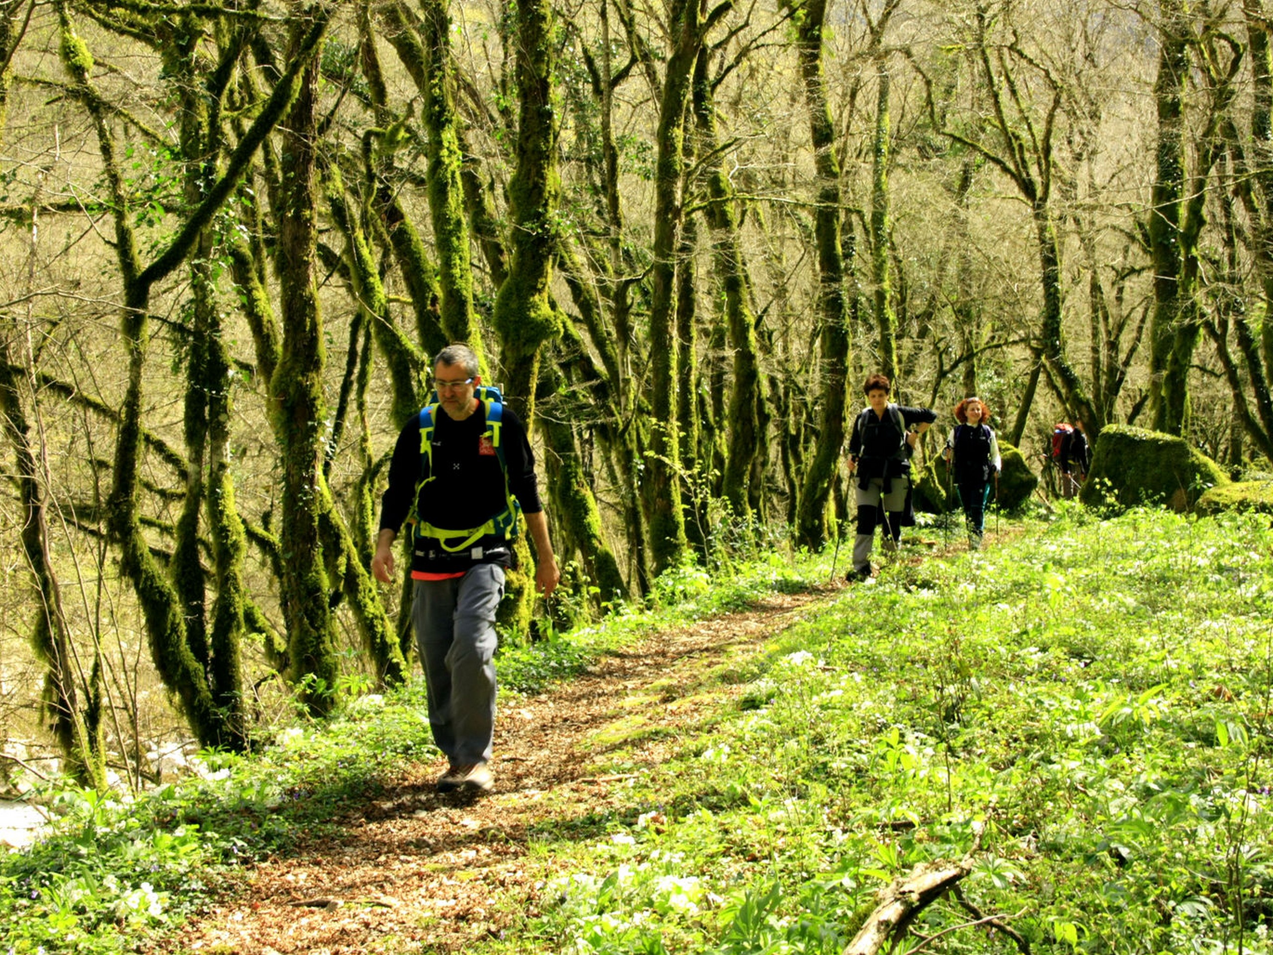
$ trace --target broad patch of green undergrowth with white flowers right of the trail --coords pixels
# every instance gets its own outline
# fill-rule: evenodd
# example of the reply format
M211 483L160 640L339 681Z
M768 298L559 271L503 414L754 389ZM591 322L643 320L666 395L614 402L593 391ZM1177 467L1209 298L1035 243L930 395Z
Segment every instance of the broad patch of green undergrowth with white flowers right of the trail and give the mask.
M479 950L839 952L975 824L961 898L897 951L1022 951L990 916L1034 952L1273 950L1268 517L1022 530L774 634L673 760L538 828L537 888Z

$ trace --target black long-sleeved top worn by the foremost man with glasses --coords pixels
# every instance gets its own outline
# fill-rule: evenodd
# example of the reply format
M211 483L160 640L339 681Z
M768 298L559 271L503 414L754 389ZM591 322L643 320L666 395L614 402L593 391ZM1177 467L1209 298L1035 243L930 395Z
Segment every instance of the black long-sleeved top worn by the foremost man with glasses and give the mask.
M481 527L507 507L504 471L499 465L488 434L481 407L462 421L453 420L439 406L434 414L433 480L420 488L429 475L420 453L420 420L411 418L398 434L390 461L390 486L381 498L381 530L401 528L411 512L412 498L420 488L418 513L434 527L462 531ZM524 513L537 513L538 483L535 476L535 455L526 428L513 410L504 405L500 446L508 466L508 490ZM486 535L461 554L449 554L435 540L418 537L412 570L448 573L466 570L475 563L509 567L512 550L503 537Z

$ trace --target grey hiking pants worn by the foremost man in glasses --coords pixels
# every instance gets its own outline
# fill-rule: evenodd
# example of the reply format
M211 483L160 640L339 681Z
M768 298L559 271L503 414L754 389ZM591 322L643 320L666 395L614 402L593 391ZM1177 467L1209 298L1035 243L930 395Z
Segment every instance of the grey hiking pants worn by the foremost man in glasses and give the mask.
M463 577L416 581L415 644L429 689L429 727L451 765L488 763L495 735L495 607L504 568L475 564Z

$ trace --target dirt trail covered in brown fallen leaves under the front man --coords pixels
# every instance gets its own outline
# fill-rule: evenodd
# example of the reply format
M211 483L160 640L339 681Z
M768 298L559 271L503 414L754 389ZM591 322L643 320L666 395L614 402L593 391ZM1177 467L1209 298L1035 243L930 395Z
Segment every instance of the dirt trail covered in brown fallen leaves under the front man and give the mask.
M535 833L621 807L622 783L741 691L713 674L763 653L843 586L773 593L746 611L654 633L547 693L503 703L493 793L439 796L444 764L412 765L374 801L349 806L341 835L257 863L163 950L453 952L500 937L535 914L544 877L542 861L528 858ZM619 747L625 772L607 775L597 760Z

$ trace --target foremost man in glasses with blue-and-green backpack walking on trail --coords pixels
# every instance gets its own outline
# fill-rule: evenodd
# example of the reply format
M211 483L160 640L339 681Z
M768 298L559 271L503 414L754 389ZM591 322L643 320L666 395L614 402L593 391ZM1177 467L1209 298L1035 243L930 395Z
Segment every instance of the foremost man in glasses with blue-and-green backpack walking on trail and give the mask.
M448 345L433 364L437 397L398 434L372 573L393 579L393 540L414 530L411 620L429 691L429 726L449 767L438 792L488 792L495 731L495 607L513 563L518 506L547 596L561 574L522 421L481 385L477 357ZM481 397L479 397L481 396Z

